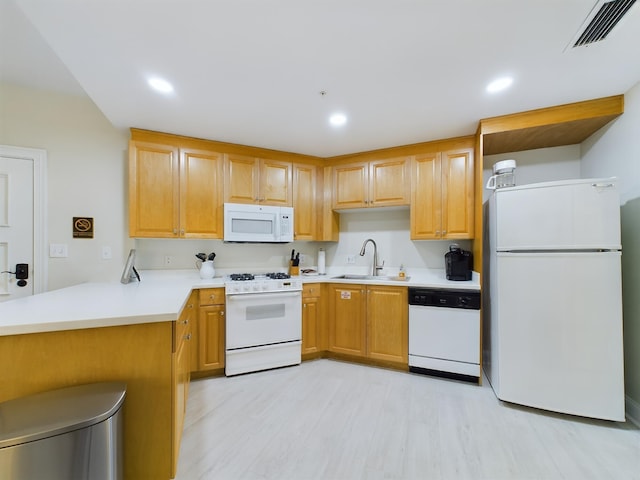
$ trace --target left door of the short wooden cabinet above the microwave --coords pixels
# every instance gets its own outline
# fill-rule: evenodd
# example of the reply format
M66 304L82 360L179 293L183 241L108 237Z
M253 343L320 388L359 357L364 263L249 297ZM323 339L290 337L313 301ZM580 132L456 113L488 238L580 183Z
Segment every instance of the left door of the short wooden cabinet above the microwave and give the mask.
M259 162L244 155L225 155L225 202L257 203Z

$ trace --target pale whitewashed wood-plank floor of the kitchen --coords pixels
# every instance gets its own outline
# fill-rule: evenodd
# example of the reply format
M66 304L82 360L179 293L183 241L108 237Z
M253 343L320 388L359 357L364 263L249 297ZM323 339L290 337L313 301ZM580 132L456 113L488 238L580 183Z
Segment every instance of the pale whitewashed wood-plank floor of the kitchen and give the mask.
M333 360L191 383L177 480L640 479L640 430Z

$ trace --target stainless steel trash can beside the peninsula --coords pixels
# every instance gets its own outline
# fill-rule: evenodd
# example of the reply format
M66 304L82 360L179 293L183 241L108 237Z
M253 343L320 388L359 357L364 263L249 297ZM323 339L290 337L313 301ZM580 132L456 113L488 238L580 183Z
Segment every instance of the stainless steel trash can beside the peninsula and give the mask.
M121 480L125 394L92 383L0 403L0 478Z

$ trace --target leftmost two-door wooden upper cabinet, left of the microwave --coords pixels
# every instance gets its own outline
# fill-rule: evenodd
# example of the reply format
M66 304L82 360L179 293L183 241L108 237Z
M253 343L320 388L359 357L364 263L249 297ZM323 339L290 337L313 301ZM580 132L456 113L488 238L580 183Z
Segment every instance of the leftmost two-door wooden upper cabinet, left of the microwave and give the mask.
M129 144L129 236L222 238L222 155Z

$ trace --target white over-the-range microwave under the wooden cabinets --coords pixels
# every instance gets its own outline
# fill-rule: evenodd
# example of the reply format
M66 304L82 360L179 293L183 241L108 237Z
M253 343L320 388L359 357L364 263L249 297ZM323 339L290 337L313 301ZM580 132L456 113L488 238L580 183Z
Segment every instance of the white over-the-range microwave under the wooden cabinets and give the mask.
M224 241L293 242L293 208L225 203Z

